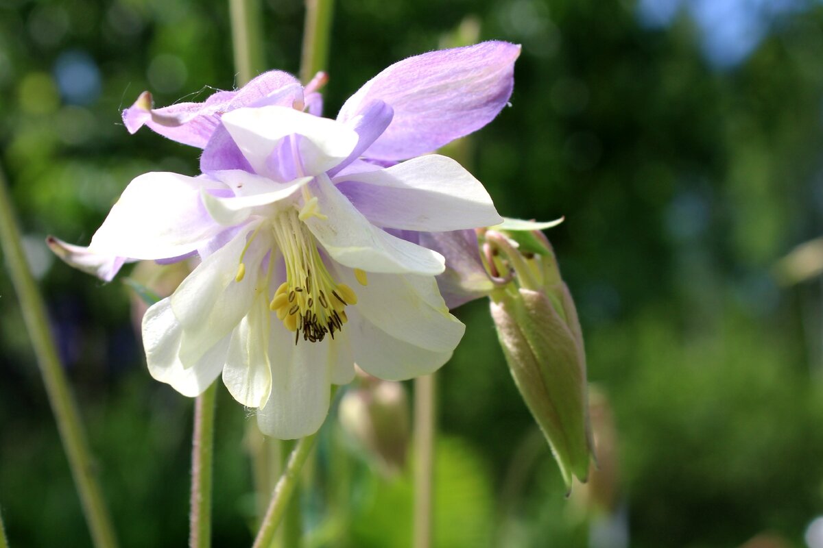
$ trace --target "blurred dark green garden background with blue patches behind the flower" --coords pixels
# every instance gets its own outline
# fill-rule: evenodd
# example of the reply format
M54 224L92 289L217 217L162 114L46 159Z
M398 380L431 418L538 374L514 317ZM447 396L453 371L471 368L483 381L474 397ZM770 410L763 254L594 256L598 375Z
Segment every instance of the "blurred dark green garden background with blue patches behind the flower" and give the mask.
M296 72L302 2L262 2L267 66ZM565 215L548 236L601 469L565 498L488 303L463 306L439 374L436 546L823 546L823 3L338 0L325 112L392 62L479 39L523 54L511 108L458 152L502 214ZM0 163L123 546L185 543L193 403L147 374L122 279L44 237L85 245L133 177L197 172L198 150L129 136L119 113L142 90L162 106L232 89L230 48L218 0L0 0ZM5 271L0 378L12 546L90 546ZM215 546L246 546L249 420L224 389L217 421ZM408 467L384 468L329 421L309 546L410 546Z

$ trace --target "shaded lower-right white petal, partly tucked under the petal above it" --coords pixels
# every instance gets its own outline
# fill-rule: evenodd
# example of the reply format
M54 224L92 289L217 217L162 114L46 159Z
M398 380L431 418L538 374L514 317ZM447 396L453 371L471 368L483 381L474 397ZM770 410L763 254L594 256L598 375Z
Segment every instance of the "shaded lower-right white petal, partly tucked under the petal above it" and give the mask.
M348 310L348 309L346 309ZM452 352L433 352L406 343L365 320L352 306L344 327L351 337L355 360L361 369L385 380L407 380L437 371Z

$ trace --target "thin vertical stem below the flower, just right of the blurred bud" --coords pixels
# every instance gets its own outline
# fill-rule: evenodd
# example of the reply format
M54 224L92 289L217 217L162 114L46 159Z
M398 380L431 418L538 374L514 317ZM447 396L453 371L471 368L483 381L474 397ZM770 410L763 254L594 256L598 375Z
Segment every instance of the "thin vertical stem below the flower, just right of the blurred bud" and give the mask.
M435 375L414 381L414 548L431 546L434 514Z

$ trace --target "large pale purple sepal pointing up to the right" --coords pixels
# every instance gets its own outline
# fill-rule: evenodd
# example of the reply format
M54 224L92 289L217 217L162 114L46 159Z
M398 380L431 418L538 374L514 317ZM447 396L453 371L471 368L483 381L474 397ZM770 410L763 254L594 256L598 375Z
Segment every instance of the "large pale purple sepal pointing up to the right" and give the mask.
M407 159L430 152L491 122L509 100L520 46L483 42L424 53L394 63L343 104L346 122L376 100L394 109L386 131L364 154Z

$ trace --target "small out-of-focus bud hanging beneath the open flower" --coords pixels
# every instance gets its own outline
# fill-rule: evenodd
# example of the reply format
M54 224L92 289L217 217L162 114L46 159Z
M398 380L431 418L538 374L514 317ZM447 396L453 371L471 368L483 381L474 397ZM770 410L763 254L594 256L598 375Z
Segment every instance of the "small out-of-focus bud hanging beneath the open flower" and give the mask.
M405 387L357 368L360 385L343 394L339 417L344 431L384 472L402 470L410 436Z

